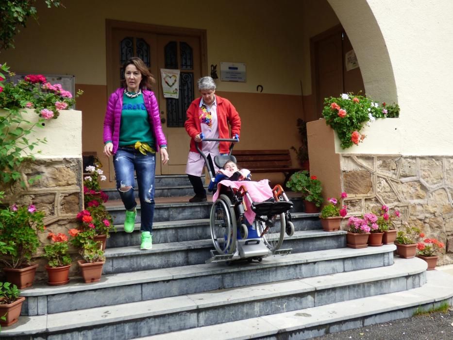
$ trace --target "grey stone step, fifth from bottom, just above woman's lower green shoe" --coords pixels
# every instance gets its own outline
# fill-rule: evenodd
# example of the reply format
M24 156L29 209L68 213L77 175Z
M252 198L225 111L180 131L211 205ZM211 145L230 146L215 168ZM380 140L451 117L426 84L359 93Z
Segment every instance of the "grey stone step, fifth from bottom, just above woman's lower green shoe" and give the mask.
M296 231L321 228L319 214L292 213ZM132 234L124 232L124 225L115 225L117 232L107 239L107 248L140 245L140 224L136 223ZM184 242L211 237L209 219L155 222L152 227L152 243Z

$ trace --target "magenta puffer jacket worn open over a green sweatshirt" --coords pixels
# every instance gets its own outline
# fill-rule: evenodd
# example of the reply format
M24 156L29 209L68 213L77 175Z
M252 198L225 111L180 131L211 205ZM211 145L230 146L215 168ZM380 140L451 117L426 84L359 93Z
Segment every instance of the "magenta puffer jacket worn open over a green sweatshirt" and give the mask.
M113 153L118 150L119 125L121 122L121 110L123 107L124 88L117 88L110 95L107 103L107 110L104 118L104 143L107 140L113 142ZM167 145L167 139L162 131L162 125L159 117L159 104L157 103L154 92L142 90L143 100L146 110L148 111L150 125L153 127L154 137L156 138L156 148L159 151L161 145Z

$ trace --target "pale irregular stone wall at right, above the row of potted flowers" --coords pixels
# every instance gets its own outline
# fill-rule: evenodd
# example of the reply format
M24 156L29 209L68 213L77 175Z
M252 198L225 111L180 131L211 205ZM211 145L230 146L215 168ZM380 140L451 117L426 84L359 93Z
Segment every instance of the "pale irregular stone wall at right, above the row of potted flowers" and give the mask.
M453 157L341 155L349 214L383 204L446 245L437 265L453 263Z

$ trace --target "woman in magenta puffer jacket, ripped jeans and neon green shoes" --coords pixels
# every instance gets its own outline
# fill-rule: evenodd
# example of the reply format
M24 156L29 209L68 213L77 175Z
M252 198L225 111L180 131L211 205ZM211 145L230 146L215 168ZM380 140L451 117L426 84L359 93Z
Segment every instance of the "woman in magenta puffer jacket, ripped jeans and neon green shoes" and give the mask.
M117 190L126 217L124 231L134 231L137 215L134 198L134 170L140 198L140 249L152 249L154 215L154 174L156 152L162 163L168 162L167 140L159 118L159 105L151 85L153 76L140 58L131 58L124 65L126 86L110 95L104 119L104 153L113 154Z

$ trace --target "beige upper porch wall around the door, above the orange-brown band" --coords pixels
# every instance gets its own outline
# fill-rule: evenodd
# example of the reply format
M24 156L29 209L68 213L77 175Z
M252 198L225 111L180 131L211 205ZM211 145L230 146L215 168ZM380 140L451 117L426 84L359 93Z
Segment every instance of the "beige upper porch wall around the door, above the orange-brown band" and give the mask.
M243 62L247 82L218 82L221 91L300 95L302 51L298 1L65 0L66 8L37 1L39 24L30 20L17 35L16 49L0 59L24 72L71 74L76 83L106 84L105 19L207 30L208 67ZM292 10L288 10L292 9ZM35 58L30 58L33 51ZM208 70L203 70L205 75Z

